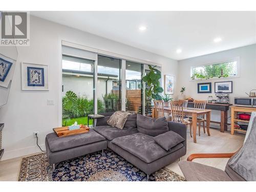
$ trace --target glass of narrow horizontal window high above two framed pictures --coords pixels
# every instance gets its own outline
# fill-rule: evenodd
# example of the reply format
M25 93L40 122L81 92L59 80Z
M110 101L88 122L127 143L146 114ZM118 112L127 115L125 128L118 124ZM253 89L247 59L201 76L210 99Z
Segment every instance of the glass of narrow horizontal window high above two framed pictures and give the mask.
M191 68L191 79L233 77L238 75L237 61L220 62Z

